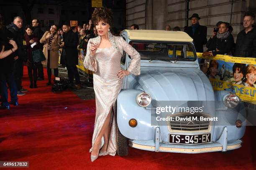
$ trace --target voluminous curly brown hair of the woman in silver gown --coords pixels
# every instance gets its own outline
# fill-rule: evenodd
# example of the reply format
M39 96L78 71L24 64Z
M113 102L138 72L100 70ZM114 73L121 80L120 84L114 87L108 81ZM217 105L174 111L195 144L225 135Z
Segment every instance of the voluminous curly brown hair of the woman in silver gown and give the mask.
M96 8L92 13L92 22L96 25L97 22L103 20L108 23L110 27L113 25L113 13L110 9L101 7Z

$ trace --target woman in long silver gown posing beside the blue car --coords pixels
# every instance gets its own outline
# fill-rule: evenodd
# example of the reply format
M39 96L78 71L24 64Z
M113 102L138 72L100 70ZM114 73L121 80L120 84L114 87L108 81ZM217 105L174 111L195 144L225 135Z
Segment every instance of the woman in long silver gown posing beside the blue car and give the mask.
M122 37L113 36L110 27L113 15L107 8L97 8L92 14L98 36L88 41L84 58L85 68L94 71L93 86L96 115L92 136L91 160L100 155L114 156L117 150L115 133L115 101L122 87L122 79L140 74L140 54ZM121 70L123 51L132 60L127 70Z

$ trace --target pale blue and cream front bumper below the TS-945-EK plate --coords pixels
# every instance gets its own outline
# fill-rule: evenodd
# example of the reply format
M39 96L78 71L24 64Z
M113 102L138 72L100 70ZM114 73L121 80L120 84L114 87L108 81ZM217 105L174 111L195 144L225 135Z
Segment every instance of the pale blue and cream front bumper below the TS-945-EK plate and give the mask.
M159 142L160 133L156 129L156 139L148 141L129 140L129 146L141 150L155 151L155 152L177 152L177 153L203 153L234 150L241 147L241 140L227 141L227 128L223 129L220 139L216 142L198 144L198 145L181 145L181 144L167 144Z

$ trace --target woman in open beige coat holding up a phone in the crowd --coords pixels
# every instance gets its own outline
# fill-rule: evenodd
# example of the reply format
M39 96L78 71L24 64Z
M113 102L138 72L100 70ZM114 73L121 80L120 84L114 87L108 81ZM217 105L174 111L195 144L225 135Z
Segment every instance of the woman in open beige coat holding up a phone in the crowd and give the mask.
M43 53L46 58L42 61L42 64L47 66L48 83L51 84L51 69L54 69L54 76L58 77L59 70L59 43L61 42L61 37L57 34L57 26L52 25L50 31L46 31L44 36L41 38L40 43L44 43Z

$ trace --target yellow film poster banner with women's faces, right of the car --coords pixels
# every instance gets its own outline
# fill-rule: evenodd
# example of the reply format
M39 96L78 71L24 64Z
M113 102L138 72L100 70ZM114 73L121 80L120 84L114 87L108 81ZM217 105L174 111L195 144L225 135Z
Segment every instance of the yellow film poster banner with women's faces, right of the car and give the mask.
M202 53L197 56L214 90L232 89L241 100L256 104L256 58L217 55L205 63Z

